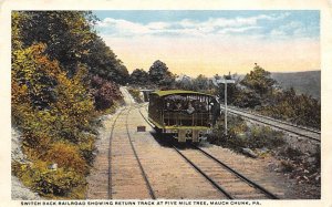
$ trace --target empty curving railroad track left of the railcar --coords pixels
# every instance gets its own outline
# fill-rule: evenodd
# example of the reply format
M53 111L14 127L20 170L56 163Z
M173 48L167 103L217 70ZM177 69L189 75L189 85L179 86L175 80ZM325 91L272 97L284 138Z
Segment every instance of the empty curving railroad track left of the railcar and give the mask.
M108 149L108 199L156 199L129 133L128 115L131 110L132 105L122 110L115 117L111 130ZM126 113L124 113L125 111ZM124 128L116 126L121 118L122 123L125 123L126 137L121 133Z

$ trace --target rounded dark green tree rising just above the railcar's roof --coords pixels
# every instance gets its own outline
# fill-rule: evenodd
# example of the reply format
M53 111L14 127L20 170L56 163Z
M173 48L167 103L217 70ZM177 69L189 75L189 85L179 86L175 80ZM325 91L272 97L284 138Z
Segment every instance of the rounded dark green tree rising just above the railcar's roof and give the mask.
M155 61L148 71L149 80L158 86L172 87L175 75L168 71L166 64L159 60Z

